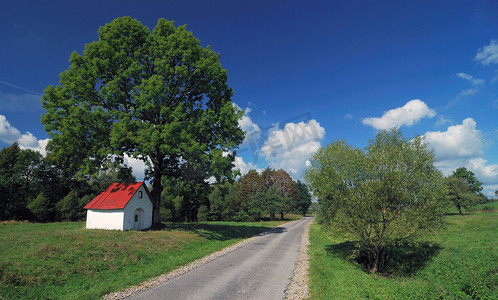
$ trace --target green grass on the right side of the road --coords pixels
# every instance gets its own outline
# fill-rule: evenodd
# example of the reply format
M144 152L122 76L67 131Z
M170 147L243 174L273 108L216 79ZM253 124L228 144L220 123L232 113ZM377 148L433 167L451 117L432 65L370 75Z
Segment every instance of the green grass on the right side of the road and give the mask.
M452 214L447 223L418 247L395 249L388 276L366 273L349 259L353 241L313 223L311 299L498 299L498 213Z

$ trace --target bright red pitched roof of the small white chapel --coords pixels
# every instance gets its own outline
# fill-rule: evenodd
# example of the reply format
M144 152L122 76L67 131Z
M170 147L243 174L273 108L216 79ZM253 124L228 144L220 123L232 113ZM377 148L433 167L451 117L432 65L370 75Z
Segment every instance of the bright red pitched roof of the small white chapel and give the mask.
M142 186L143 181L136 183L113 183L105 191L100 193L95 199L88 202L84 209L123 209L137 190ZM147 186L145 192L148 194Z

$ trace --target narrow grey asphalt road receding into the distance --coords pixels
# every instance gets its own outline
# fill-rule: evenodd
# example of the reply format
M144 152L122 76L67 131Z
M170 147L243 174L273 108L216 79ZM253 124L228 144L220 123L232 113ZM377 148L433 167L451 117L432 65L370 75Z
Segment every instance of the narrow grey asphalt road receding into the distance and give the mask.
M249 244L126 299L283 299L312 218L287 223Z

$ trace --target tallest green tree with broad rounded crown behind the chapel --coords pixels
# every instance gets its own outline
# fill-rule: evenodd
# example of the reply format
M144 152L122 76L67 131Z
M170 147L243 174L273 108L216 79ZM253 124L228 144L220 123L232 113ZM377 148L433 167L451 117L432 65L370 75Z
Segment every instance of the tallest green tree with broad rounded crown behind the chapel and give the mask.
M153 222L160 222L163 176L229 178L244 133L219 54L186 26L160 19L152 32L122 17L98 41L71 54L60 84L43 95L50 156L76 176L110 157L144 160L152 179ZM198 179L199 180L199 179Z

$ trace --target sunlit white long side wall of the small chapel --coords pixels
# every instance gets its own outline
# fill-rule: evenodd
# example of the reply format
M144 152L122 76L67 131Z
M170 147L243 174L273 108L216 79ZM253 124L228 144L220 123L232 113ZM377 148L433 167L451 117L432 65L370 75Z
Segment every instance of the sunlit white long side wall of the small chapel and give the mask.
M123 230L124 210L87 209L86 228Z

